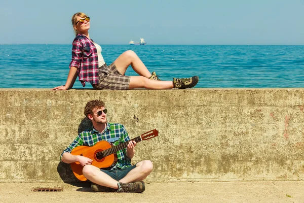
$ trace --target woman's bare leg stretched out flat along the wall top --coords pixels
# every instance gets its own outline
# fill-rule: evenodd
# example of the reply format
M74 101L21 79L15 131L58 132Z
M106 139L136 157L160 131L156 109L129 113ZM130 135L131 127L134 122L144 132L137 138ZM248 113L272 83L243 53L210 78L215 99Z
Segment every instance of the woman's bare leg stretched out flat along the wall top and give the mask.
M146 89L172 89L172 81L150 80L142 76L130 76L129 89L146 88Z

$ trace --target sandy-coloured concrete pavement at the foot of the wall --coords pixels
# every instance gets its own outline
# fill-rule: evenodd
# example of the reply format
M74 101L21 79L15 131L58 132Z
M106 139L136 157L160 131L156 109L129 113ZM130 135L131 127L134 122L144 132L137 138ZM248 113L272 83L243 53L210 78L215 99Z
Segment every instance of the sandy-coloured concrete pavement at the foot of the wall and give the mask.
M62 192L32 192L63 187ZM93 192L88 185L1 183L0 202L303 202L303 181L148 183L143 193Z

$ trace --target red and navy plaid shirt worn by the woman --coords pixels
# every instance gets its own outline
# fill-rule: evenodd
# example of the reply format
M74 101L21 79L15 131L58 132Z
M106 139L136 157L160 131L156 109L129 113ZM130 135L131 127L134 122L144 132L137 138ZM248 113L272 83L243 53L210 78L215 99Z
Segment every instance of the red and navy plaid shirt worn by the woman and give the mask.
M78 34L72 43L72 60L69 68L77 67L77 74L83 86L86 86L86 82L99 82L97 49L92 41L87 36Z

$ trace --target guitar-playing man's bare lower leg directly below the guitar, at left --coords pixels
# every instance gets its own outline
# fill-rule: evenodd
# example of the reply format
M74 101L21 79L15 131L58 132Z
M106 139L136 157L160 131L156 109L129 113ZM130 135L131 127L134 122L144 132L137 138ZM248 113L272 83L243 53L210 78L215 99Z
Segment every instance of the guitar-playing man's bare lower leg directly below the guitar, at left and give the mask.
M100 171L100 169L94 165L85 165L83 168L83 174L89 181L93 183L118 189L118 181L112 179L109 175Z

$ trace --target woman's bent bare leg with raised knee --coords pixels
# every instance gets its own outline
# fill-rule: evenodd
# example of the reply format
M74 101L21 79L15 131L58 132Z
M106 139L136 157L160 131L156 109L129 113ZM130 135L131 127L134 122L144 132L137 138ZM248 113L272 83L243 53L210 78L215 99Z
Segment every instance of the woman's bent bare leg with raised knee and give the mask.
M145 78L151 77L150 72L147 70L147 67L143 64L137 54L132 51L128 50L122 53L115 61L114 61L117 70L122 74L125 75L127 68L129 65L132 66L132 69L140 76Z

